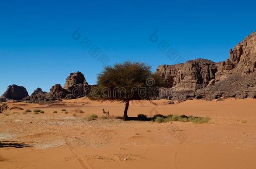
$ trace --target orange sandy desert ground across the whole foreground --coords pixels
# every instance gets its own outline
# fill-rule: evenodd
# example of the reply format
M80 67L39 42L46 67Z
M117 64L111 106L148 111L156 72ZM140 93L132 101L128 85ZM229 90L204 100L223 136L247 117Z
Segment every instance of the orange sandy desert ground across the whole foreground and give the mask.
M117 118L123 104L87 98L9 102L10 107L45 113L12 109L0 114L0 169L256 169L256 99L154 102L158 106L132 103L128 116L185 114L211 120L123 121ZM110 111L109 119L100 118L102 108ZM87 121L89 114L99 118Z

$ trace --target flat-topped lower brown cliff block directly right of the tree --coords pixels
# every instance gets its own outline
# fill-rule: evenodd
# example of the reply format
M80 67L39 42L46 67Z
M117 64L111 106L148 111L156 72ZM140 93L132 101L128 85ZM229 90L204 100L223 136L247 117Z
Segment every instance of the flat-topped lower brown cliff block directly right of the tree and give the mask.
M175 87L178 91L195 91L208 86L215 79L216 63L206 59L196 59L177 65L161 65L157 73L163 78L163 87Z

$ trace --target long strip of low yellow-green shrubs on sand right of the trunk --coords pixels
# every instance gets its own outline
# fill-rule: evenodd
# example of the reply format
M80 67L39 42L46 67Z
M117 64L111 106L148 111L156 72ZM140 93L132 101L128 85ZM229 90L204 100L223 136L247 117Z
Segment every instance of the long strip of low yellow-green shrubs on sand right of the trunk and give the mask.
M153 121L157 123L166 123L170 121L181 121L181 122L187 122L190 121L195 124L202 124L202 123L208 123L209 118L208 117L193 117L193 116L185 116L185 115L168 115L163 116L162 114L157 114L153 117Z

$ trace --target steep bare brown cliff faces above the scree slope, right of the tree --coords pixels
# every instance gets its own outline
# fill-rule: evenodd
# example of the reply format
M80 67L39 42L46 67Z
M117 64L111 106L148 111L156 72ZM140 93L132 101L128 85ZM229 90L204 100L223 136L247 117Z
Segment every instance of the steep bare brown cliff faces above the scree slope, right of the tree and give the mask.
M255 73L256 32L235 45L234 50L230 49L230 58L226 61L214 63L206 59L196 59L182 64L160 65L156 72L165 82L163 87L175 88L175 91L185 93L213 86L234 73Z

